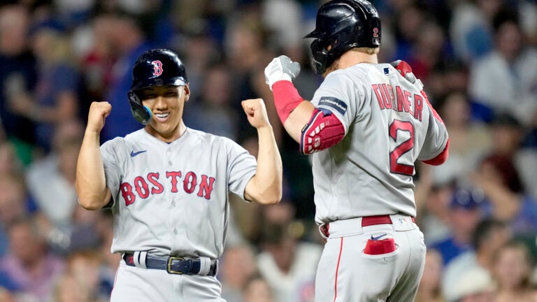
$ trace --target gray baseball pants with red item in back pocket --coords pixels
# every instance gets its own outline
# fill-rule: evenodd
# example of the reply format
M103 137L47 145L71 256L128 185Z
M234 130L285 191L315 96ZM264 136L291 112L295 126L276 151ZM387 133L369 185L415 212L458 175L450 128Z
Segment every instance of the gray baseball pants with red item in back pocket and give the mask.
M317 267L315 301L413 301L424 264L420 233L418 229L394 231L392 225L382 224L364 227L355 236L329 238ZM364 254L367 240L383 234L382 238L394 238L396 250Z

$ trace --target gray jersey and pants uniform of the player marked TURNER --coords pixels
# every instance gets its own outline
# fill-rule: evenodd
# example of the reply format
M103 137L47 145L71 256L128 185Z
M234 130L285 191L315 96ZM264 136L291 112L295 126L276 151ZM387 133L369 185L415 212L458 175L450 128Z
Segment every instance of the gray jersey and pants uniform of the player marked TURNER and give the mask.
M312 155L315 220L329 225L316 300L411 301L426 251L412 218L414 162L440 154L447 131L417 87L390 64L334 71L312 103L345 129L340 143ZM390 238L391 252L367 254L368 240Z

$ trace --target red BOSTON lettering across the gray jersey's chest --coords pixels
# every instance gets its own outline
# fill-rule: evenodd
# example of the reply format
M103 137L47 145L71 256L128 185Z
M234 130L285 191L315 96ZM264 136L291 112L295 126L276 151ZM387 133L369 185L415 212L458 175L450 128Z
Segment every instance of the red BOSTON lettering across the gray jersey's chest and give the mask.
M146 199L150 194L155 195L164 192L164 185L159 182L159 177L159 173L148 173L145 178L143 176L136 176L132 185L129 182L123 182L120 186L120 189L125 201L125 206L129 206L136 201L135 193L137 193L141 199ZM166 178L169 178L171 192L179 192L179 180L182 178L182 172L166 171ZM214 182L215 178L213 177L202 174L201 178L198 178L196 173L189 171L185 173L185 178L182 179L182 189L188 194L192 194L196 190L196 185L198 185L198 191L196 194L199 197L209 200L210 193L213 192Z

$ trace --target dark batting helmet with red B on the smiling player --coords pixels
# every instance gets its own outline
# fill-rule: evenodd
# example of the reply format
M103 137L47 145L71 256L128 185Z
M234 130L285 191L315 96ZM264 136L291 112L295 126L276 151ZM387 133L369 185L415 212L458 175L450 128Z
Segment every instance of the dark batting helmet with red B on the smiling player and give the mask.
M185 66L176 52L167 49L155 49L144 52L134 63L132 69L131 89L127 93L131 112L142 124L147 124L151 111L144 107L137 92L152 86L184 86L187 85Z

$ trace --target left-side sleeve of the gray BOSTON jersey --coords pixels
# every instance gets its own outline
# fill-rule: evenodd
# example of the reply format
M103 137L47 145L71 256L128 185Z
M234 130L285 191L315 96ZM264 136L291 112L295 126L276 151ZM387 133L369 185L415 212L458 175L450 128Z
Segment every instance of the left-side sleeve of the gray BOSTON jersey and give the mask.
M117 150L120 147L120 139L122 138L115 138L101 145L101 159L103 160L106 187L112 192L112 200L105 208L112 208L114 206L115 192L119 192L120 190L122 171L120 169L120 161L117 158L117 154L122 154Z

